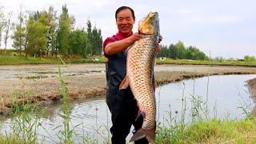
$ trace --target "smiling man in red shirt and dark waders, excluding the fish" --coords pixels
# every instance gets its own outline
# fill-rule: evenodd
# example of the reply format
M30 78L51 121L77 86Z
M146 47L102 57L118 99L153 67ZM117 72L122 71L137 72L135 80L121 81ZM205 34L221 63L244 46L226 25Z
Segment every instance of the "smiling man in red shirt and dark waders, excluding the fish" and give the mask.
M128 6L121 6L115 13L118 34L106 38L103 42L103 52L108 58L106 62L106 103L111 112L113 126L110 128L113 144L126 143L126 136L130 133L130 126L138 130L142 127L142 115L138 115L137 102L130 87L119 90L123 78L126 77L126 49L141 38L141 34L133 33L135 22L134 10ZM158 47L158 51L160 47ZM136 119L136 121L135 121ZM137 143L149 143L146 138Z

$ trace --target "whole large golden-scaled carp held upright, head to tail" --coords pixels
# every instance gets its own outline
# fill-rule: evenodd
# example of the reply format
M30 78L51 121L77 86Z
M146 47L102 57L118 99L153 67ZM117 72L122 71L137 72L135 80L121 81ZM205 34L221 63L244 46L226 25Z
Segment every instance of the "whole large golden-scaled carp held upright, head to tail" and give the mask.
M143 115L142 128L130 142L140 138L154 143L156 128L156 104L154 98L154 58L159 41L159 19L157 12L150 12L138 24L142 37L127 49L126 78L119 89L130 86L139 107L138 116Z

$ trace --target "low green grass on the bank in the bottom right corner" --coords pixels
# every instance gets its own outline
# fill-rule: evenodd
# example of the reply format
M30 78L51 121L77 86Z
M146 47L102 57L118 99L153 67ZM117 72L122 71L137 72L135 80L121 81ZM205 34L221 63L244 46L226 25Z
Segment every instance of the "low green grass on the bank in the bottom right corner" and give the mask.
M155 143L256 143L256 118L196 121L186 126L158 126Z

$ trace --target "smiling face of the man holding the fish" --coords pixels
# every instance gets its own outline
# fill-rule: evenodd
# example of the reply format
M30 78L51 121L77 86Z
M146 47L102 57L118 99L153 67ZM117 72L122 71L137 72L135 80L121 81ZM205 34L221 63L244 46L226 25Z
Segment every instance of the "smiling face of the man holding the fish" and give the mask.
M129 9L121 10L117 14L117 26L118 30L122 34L130 34L134 27L135 19Z

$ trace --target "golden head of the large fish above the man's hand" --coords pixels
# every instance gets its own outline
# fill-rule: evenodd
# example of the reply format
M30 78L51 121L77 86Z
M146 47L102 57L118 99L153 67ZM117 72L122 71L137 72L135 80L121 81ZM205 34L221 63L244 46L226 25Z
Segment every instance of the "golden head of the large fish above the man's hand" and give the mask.
M142 18L138 22L138 31L140 34L158 35L159 34L159 18L158 12L150 12L146 18Z

